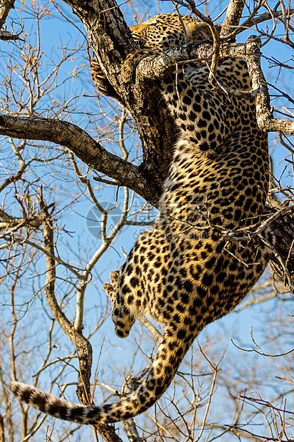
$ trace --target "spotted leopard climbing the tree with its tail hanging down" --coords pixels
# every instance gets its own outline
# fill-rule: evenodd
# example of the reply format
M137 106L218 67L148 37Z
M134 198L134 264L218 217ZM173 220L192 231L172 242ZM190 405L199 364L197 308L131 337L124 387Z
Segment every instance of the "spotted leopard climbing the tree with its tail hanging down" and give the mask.
M130 29L145 56L212 40L207 24L177 13ZM133 391L99 406L11 384L15 396L43 413L103 425L146 411L172 383L201 330L231 312L266 268L274 237L252 232L261 223L268 193L267 134L258 128L246 61L219 61L220 88L209 81L209 67L207 60L175 64L157 83L160 96L154 100L164 99L178 128L159 215L103 285L117 336L128 336L141 315L163 324L152 363ZM239 93L227 93L228 88ZM99 69L98 90L120 101Z

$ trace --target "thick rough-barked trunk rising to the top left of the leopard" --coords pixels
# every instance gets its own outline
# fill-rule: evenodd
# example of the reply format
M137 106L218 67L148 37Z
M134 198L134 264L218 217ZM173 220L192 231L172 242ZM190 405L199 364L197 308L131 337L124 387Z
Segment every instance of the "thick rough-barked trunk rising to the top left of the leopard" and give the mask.
M157 197L162 192L158 183L167 176L172 145L177 139L167 106L154 83L149 82L144 90L134 85L132 53L137 47L115 0L65 1L83 22L101 69L135 120L143 150L140 172L149 186L156 187L153 195Z

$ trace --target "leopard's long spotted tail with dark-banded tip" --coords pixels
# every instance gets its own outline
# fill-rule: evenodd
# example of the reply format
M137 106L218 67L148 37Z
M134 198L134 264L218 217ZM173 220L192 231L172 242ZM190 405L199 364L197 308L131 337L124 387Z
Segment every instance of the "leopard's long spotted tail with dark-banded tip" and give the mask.
M147 410L162 396L174 378L194 336L195 334L191 334L187 326L182 328L167 326L145 379L142 379L132 393L122 396L122 399L115 404L102 406L73 404L20 382L12 382L10 389L26 404L65 421L92 425L122 421Z

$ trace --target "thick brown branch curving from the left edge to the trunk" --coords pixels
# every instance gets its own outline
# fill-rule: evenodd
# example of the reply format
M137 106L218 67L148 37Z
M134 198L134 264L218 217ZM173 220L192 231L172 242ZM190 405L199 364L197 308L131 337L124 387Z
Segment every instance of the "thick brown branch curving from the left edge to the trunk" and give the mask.
M89 167L126 185L149 202L157 200L157 186L140 167L107 152L85 130L61 120L0 115L0 134L27 140L51 141L70 149ZM115 183L114 183L115 184Z

